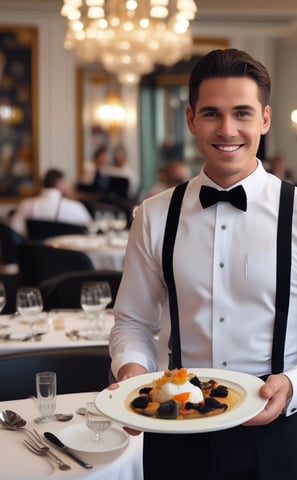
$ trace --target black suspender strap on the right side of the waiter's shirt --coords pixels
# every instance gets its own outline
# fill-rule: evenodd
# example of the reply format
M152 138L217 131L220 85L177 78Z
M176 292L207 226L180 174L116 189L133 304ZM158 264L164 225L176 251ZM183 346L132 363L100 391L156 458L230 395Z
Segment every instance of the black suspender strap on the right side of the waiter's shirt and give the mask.
M284 349L290 301L294 194L295 186L282 181L277 227L275 322L271 360L272 373L281 373L284 369Z

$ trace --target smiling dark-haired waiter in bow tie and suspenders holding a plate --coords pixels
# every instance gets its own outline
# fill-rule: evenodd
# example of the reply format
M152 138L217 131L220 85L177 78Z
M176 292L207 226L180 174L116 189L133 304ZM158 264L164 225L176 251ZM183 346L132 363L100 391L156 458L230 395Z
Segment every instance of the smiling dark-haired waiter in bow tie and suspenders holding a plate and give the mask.
M259 395L267 404L244 425L227 430L145 433L145 480L159 474L171 480L189 475L203 480L297 478L297 212L295 206L282 342L273 337L281 180L256 157L260 136L270 128L269 94L267 70L245 52L212 51L194 67L186 116L205 163L187 185L173 253L182 365L263 377ZM207 205L205 186L223 190L222 201ZM238 208L229 203L233 197L226 199L235 187L242 195ZM132 224L110 336L118 381L166 369L172 353L162 271L172 192L145 200ZM275 340L284 365L280 371L272 367Z

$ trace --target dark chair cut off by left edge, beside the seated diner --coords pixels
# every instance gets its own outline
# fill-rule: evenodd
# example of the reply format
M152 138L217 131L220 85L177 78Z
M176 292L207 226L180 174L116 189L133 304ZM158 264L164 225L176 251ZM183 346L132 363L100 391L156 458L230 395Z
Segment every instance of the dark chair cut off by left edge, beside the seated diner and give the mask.
M5 222L0 221L0 265L17 265L17 246L24 244L23 235L13 230Z

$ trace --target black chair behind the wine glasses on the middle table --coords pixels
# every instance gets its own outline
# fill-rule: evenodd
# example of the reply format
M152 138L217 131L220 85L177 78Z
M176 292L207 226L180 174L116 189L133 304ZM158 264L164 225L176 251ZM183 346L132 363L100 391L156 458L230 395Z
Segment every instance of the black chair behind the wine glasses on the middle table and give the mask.
M111 288L112 301L108 307L113 307L118 288L122 279L119 270L85 270L57 275L39 284L44 308L81 308L80 293L85 282L108 282Z

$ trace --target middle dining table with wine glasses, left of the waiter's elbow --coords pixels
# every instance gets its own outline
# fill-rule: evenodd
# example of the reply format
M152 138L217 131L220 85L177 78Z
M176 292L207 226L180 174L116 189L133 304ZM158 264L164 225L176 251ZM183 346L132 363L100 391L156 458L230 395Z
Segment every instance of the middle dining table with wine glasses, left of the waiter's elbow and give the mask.
M50 310L42 312L30 327L21 315L0 315L0 357L1 354L30 352L65 348L108 347L108 337L114 324L112 310L105 314L100 336L90 338L86 314L80 309Z

